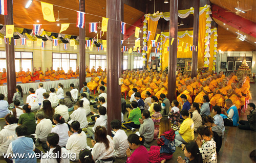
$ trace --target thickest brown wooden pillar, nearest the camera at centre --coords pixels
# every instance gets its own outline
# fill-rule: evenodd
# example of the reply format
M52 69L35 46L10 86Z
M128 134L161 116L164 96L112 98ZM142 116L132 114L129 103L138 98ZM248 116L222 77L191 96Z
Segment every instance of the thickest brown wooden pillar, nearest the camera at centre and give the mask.
M107 71L107 115L108 134L111 134L110 123L114 119L121 121L121 0L106 0L106 17L109 18L106 33L106 71Z

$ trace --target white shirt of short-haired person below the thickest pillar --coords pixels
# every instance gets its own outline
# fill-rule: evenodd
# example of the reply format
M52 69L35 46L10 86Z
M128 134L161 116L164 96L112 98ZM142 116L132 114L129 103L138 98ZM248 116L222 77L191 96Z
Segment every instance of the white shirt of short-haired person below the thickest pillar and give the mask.
M115 137L113 137L113 142L115 144L114 157L125 157L126 149L129 148L125 131L121 129L117 130Z

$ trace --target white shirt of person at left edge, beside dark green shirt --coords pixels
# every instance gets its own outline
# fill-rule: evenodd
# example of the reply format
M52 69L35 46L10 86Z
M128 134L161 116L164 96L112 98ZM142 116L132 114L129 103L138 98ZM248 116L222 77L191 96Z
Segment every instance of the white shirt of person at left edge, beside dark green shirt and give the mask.
M0 156L7 152L9 144L17 139L15 128L18 127L17 123L9 124L0 131Z

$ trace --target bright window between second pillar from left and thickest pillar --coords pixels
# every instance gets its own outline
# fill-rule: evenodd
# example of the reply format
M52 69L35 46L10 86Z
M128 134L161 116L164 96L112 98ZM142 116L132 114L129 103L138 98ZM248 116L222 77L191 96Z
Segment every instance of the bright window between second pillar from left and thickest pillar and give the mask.
M97 71L98 67L101 66L101 69L106 68L106 56L105 55L90 55L90 70L95 66Z

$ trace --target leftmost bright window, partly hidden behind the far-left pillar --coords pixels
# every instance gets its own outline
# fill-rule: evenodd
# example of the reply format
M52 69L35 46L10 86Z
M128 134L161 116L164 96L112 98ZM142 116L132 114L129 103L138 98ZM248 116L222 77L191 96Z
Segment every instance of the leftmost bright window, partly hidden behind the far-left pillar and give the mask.
M0 51L0 69L6 68L6 51ZM23 67L23 71L33 69L33 52L15 51L15 71L19 71L19 67Z

